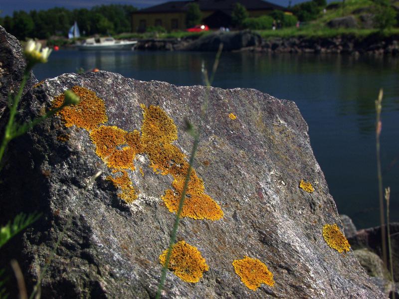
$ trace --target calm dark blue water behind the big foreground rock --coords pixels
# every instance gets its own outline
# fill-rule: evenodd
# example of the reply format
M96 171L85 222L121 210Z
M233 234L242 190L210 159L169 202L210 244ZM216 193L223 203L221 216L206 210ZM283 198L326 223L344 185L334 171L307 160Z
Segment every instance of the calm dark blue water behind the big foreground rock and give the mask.
M202 84L214 53L53 52L36 67L39 80L97 67L139 80ZM391 221L399 221L399 58L223 53L213 86L255 88L294 101L338 211L358 228L379 224L375 104L384 88L381 136L384 186L391 186Z

